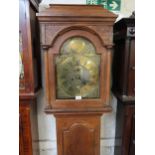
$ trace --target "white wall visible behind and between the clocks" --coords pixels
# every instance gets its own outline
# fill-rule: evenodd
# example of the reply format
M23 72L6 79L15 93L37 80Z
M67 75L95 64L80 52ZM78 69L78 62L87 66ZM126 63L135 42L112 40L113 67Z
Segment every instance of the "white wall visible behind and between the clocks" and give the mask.
M86 0L43 0L40 4L40 10L47 7L49 3L56 4L86 4ZM121 11L118 19L128 17L134 10L134 0L122 0ZM56 124L53 115L44 113L46 106L45 99L45 80L44 80L44 62L42 57L42 85L43 89L38 98L38 127L39 127L39 145L40 155L57 155L56 152ZM111 105L113 111L104 114L101 119L101 155L114 155L115 145L115 119L117 100L112 95ZM119 141L116 141L119 144Z

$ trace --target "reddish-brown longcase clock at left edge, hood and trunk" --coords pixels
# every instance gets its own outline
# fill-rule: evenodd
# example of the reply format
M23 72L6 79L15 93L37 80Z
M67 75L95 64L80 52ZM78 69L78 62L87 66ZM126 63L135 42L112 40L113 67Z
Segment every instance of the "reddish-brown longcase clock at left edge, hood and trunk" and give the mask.
M19 154L37 151L37 92L41 87L38 3L19 0ZM39 150L38 150L39 151ZM38 152L39 154L39 152Z

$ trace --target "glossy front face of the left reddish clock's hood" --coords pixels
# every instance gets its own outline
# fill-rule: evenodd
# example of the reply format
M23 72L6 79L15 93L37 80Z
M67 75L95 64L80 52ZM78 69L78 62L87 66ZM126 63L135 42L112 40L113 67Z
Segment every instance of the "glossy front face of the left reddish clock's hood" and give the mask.
M28 41L26 27L26 0L19 0L19 90L20 94L28 92L29 70L27 59Z

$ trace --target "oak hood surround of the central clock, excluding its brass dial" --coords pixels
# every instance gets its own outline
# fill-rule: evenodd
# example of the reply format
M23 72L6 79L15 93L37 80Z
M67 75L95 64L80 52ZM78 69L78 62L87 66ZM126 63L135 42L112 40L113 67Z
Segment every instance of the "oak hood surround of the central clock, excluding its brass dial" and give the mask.
M111 51L113 47L112 25L117 16L103 9L102 6L51 5L50 8L37 13L37 17L40 22L41 45L44 49L46 97L50 107L73 110L75 108L88 109L107 106L110 95ZM72 17L74 18L70 19ZM64 41L74 36L90 40L94 44L97 54L101 56L99 99L81 101L56 99L54 58L59 54Z

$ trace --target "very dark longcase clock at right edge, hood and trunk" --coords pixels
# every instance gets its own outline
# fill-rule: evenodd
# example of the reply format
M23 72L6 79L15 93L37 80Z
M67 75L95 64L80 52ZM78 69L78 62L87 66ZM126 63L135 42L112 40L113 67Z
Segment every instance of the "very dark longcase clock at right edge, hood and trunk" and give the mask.
M114 25L113 92L118 99L115 155L134 155L135 148L135 19Z

